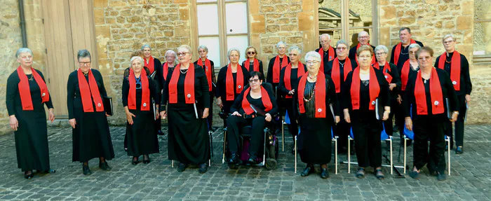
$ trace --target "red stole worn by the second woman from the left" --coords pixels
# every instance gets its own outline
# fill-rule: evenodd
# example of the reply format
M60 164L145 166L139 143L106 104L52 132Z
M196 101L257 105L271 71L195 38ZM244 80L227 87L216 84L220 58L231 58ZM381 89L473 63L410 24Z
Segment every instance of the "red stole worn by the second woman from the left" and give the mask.
M86 77L83 76L82 70L78 69L77 71L83 112L94 112L92 102L95 104L95 111L104 111L104 104L102 104L99 87L95 81L92 69L88 70L88 83L86 81Z

